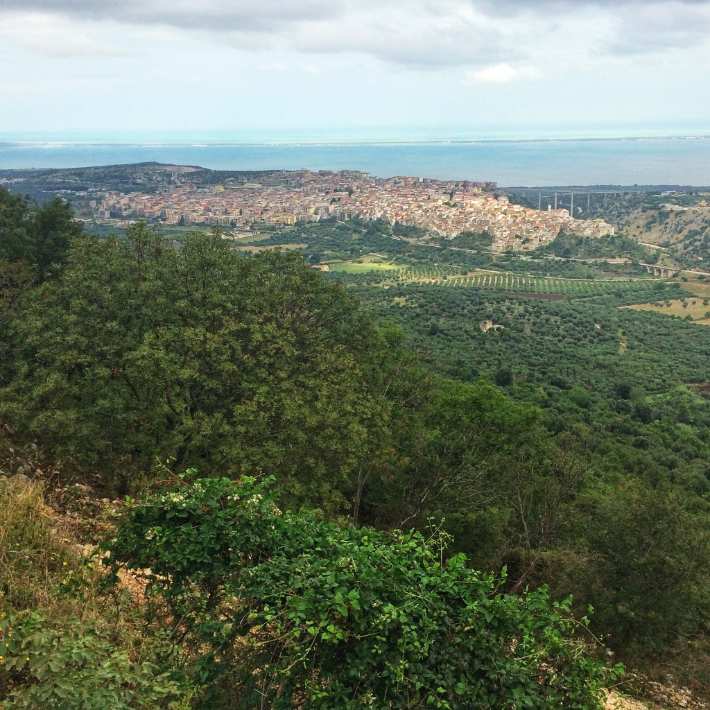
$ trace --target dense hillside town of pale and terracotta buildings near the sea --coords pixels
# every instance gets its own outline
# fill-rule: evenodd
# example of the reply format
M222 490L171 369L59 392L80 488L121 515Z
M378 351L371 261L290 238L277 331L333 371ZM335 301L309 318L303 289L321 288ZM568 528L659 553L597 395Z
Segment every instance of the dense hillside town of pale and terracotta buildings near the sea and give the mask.
M178 176L175 176L178 177ZM560 231L579 236L614 233L601 219L574 219L567 209L530 209L498 195L494 182L376 178L358 170L275 171L270 182L204 187L180 175L157 192L104 192L92 201L94 217L166 224L207 225L237 233L264 224L285 226L321 219L386 219L453 239L487 231L493 251L524 251L549 244ZM103 199L100 200L99 198ZM234 233L232 233L234 234Z

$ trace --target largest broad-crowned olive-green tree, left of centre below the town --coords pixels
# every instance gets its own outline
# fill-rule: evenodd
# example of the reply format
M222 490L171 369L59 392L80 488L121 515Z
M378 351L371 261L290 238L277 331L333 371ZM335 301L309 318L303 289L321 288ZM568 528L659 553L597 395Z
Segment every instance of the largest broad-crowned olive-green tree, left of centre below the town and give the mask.
M82 237L15 327L0 410L119 483L156 457L269 466L293 501L337 507L380 410L361 363L381 341L356 302L296 254L243 258L219 234Z

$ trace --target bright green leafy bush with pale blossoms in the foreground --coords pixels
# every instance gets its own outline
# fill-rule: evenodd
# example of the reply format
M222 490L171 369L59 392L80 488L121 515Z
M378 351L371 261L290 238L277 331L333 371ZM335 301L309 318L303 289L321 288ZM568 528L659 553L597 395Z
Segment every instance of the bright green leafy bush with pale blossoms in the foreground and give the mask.
M500 594L439 536L282 514L266 484L188 472L108 545L114 571L150 568L210 706L599 707L605 673L573 639L569 602Z

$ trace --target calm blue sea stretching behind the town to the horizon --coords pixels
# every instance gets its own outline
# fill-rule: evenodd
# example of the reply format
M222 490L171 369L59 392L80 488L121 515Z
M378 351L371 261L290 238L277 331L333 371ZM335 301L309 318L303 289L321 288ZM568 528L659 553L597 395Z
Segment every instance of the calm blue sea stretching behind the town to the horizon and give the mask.
M4 142L3 142L4 141ZM383 178L545 185L710 185L710 136L410 142L62 142L0 134L0 168L146 161L217 170L363 170Z

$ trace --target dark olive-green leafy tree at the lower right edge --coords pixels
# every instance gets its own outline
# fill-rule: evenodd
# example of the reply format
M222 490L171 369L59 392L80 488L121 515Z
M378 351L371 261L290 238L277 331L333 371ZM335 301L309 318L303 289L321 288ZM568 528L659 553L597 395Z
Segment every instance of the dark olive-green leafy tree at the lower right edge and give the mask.
M684 496L678 488L653 490L631 480L584 496L593 510L586 532L591 557L577 568L572 588L586 589L598 611L596 628L612 648L663 655L679 637L697 635L699 620L706 628L706 523L699 510L684 506Z

